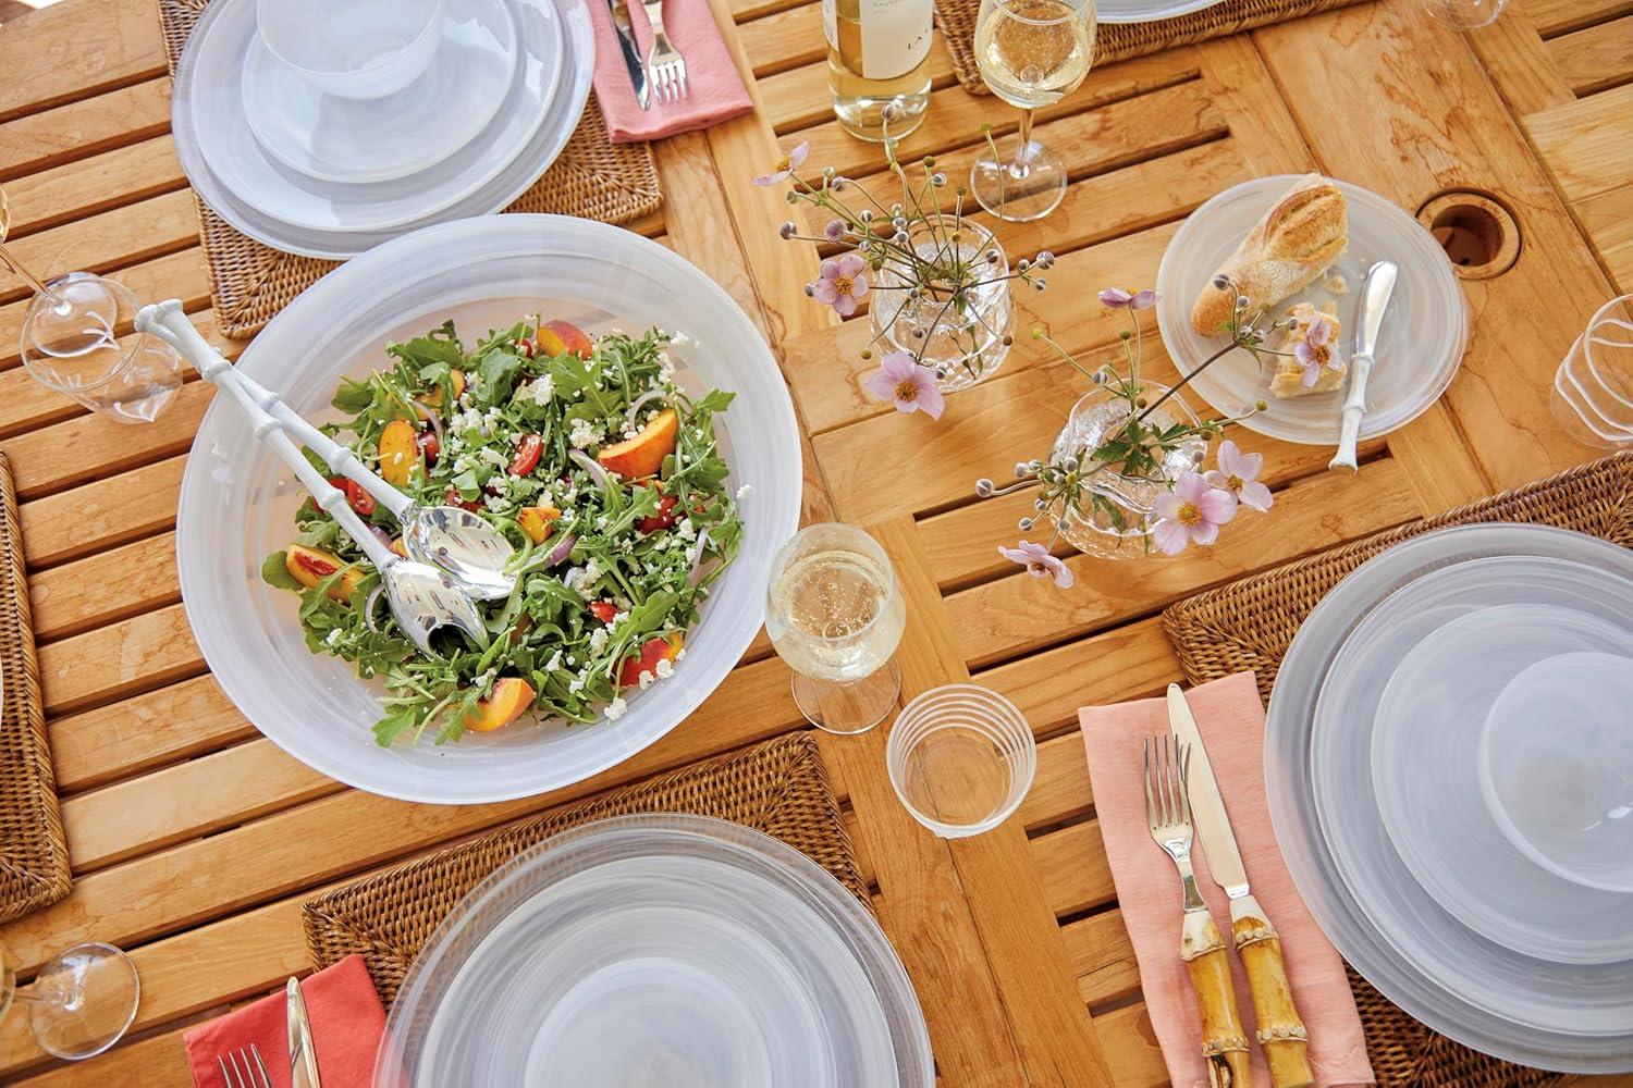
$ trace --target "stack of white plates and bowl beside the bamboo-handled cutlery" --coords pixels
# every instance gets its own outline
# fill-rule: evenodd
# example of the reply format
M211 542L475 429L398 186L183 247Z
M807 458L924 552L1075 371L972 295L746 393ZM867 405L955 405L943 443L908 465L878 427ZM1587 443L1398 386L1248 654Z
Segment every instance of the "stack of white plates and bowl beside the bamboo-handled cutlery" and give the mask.
M1633 551L1470 525L1298 630L1266 736L1288 868L1344 958L1502 1059L1633 1070Z

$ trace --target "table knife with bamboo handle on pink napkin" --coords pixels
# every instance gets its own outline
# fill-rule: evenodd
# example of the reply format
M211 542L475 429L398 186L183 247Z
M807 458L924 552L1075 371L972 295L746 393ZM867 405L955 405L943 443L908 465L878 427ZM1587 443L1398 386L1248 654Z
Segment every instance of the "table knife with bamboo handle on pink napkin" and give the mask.
M1287 984L1287 967L1282 964L1282 940L1259 900L1248 891L1248 869L1236 848L1236 834L1230 827L1225 798L1213 778L1213 765L1197 731L1197 719L1177 683L1168 685L1168 723L1174 736L1190 745L1187 768L1190 817L1202 838L1208 873L1230 896L1231 936L1236 954L1248 969L1253 1011L1259 1019L1259 1046L1264 1047L1264 1060L1270 1067L1270 1083L1275 1088L1315 1083L1306 1055L1308 1033L1293 1006L1293 990Z

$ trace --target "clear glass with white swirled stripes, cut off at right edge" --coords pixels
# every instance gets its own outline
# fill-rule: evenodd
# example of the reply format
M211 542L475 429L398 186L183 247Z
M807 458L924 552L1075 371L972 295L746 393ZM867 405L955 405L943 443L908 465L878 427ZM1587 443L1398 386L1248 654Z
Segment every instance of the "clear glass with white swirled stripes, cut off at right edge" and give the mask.
M1633 295L1612 299L1553 375L1553 416L1584 445L1633 445Z

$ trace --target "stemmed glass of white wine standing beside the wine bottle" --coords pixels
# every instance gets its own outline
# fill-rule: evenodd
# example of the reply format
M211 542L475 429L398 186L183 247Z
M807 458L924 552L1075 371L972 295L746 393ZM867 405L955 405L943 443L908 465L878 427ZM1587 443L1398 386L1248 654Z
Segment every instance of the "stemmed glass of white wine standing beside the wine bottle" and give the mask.
M1021 129L988 145L970 168L970 191L998 219L1042 219L1066 196L1066 163L1032 139L1032 113L1089 73L1094 0L981 0L975 62L988 90L1021 109Z

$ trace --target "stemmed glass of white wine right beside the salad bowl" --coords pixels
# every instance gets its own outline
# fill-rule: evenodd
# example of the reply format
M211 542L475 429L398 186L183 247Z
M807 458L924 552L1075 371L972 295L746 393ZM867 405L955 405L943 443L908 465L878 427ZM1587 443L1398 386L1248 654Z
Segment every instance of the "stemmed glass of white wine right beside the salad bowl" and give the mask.
M906 605L890 558L852 525L808 525L771 561L766 633L818 729L865 732L897 705Z

